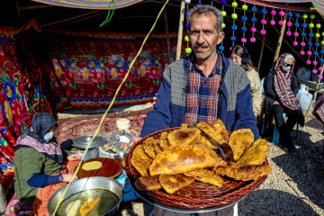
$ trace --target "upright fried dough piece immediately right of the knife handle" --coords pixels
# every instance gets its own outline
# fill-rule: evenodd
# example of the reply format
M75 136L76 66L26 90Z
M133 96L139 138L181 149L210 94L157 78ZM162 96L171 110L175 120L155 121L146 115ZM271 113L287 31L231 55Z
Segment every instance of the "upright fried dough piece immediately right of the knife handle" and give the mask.
M233 148L234 160L237 161L253 143L254 134L250 129L235 130L229 137L229 146Z

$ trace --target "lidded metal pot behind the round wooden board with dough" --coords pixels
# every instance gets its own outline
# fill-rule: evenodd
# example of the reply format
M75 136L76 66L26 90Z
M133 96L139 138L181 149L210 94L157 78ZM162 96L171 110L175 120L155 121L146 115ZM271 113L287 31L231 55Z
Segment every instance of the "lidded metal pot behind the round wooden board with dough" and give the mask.
M82 157L84 155L84 151L71 151L70 149L73 147L85 149L87 144L93 137L94 136L92 135L85 135L76 137L74 139L68 139L67 141L62 143L61 148L67 152L67 155L77 154ZM88 159L97 158L99 155L99 147L103 146L106 142L107 140L105 138L101 136L95 136L83 160L85 161Z

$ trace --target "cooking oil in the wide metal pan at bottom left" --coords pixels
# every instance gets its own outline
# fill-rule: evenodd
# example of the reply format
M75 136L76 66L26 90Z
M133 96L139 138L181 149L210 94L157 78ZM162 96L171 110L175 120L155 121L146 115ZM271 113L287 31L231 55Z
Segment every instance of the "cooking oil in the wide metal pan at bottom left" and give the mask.
M119 202L119 198L115 193L102 189L86 190L67 197L58 207L58 216L79 216L79 210L83 203L88 200L99 197L99 201L94 208L86 214L86 216L98 216L111 211Z

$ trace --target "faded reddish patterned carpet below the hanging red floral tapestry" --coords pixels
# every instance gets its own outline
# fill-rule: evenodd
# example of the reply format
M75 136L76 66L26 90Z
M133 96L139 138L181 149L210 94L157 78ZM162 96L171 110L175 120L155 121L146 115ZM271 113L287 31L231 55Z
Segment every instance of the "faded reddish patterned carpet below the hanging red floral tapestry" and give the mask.
M147 113L139 113L136 115L125 116L124 118L130 120L130 130L135 130L139 136L140 130L144 124ZM104 133L117 132L116 121L121 117L106 117L98 132L98 136L104 136ZM98 128L101 121L100 117L81 119L81 120L68 120L58 125L56 132L56 139L60 145L67 139L73 139L83 135L94 135L95 130Z

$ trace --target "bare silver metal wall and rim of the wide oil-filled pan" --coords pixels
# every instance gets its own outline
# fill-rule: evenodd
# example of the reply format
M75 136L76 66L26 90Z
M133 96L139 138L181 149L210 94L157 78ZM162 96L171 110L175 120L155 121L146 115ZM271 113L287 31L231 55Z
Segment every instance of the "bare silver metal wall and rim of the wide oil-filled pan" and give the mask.
M50 198L49 202L47 205L47 209L49 211L49 215L53 215L56 206L58 204L59 198L62 196L64 190L66 189L67 185L61 187L58 189L56 193L54 193ZM115 193L118 198L119 202L112 208L112 210L107 211L103 215L105 216L111 216L115 215L116 211L118 211L118 208L120 206L122 196L123 196L123 187L122 185L117 182L116 180L108 177L88 177L88 178L82 178L79 179L73 183L71 183L67 189L67 193L65 193L63 197L63 201L65 201L69 196L79 193L82 191L86 190L91 190L91 189L102 189L102 190L107 190L112 193Z

